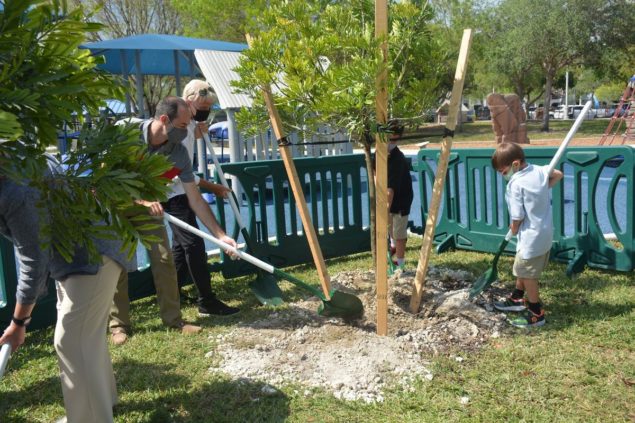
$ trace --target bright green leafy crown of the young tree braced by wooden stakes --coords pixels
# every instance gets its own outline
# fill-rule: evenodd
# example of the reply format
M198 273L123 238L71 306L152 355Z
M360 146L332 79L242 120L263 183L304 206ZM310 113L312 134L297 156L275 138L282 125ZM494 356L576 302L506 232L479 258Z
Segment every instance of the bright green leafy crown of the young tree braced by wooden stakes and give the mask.
M428 29L431 9L390 2L389 17L389 111L416 118L436 105L445 52ZM375 80L382 62L373 2L272 1L253 27L257 32L235 86L256 105L238 114L241 127L263 129L260 90L271 85L287 131L311 133L329 125L365 142L364 134L376 128Z

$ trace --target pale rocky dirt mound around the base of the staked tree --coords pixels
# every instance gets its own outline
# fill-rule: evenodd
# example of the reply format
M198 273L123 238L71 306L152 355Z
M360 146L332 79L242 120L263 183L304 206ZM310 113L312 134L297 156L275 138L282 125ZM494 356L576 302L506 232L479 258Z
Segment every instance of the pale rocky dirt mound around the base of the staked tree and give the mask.
M333 287L357 295L364 316L343 321L317 315L315 297L287 304L267 318L242 322L212 339L210 371L275 386L323 388L337 398L376 402L386 388L408 389L415 379L432 380L429 359L474 351L504 330L505 316L491 310L491 298L468 300L474 276L431 267L420 312L409 312L414 272L389 279L388 336L376 335L375 276L372 271L339 273Z

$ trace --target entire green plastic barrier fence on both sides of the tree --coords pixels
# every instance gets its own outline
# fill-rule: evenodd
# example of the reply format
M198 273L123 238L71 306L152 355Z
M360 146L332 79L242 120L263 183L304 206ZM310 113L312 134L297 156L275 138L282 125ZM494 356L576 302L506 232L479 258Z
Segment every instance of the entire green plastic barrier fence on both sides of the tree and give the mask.
M555 148L527 148L527 160L546 165ZM493 149L457 150L451 154L442 209L435 231L437 251L460 248L495 252L507 232L509 216L504 181L491 168ZM418 174L422 221L425 222L438 160L438 150L421 150L413 170ZM635 263L635 153L631 147L572 147L560 169L565 181L553 188L554 242L552 258L567 262L569 274L584 265L632 271ZM302 224L296 211L282 161L224 164L246 193L248 232L257 241L254 255L276 267L311 262ZM367 176L362 155L297 159L305 196L325 257L370 249ZM226 215L226 213L229 213ZM412 213L415 213L413 209ZM272 214L270 218L270 214ZM217 203L221 225L226 220L233 237L238 228L229 205ZM604 220L604 230L602 221ZM274 222L270 231L269 223ZM367 220L366 220L367 221ZM268 235L272 232L274 235ZM603 232L612 232L609 241ZM513 254L515 245L506 250ZM0 237L0 290L7 307L0 309L0 325L7 325L15 305L17 275L13 246ZM241 261L222 259L213 266L232 277L254 272ZM154 293L149 268L130 273L131 299ZM33 313L31 329L55 321L56 294L48 295Z

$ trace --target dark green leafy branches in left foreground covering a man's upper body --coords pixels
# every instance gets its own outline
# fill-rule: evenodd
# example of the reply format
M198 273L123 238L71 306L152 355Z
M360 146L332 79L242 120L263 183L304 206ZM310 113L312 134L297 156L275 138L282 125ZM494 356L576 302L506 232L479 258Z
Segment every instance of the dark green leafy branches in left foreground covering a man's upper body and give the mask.
M0 11L0 176L28 181L42 192L51 212L46 243L70 258L74 245L94 253L95 236L120 237L127 247L139 236L126 217L133 199L164 196L158 178L168 168L149 157L137 130L105 123L82 129L68 167L45 175L48 147L58 128L84 111L98 114L104 100L121 90L98 72L97 58L78 46L100 26L65 1L3 3ZM104 226L93 226L103 222ZM150 241L146 239L146 241ZM132 251L129 249L130 253Z

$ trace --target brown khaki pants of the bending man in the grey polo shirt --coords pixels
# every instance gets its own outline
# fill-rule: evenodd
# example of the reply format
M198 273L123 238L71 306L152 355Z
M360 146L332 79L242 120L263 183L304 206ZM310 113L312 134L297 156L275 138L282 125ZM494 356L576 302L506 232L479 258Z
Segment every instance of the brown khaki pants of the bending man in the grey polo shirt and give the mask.
M150 270L154 287L157 291L157 302L161 320L169 327L177 327L183 320L179 301L179 286L174 267L172 249L168 241L168 233L164 225L144 233L155 235L161 241L151 244L148 250ZM128 274L124 272L117 282L117 290L110 309L110 329L122 327L130 329L130 299L128 298Z

